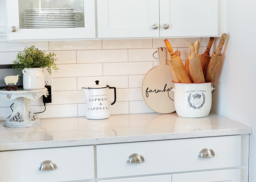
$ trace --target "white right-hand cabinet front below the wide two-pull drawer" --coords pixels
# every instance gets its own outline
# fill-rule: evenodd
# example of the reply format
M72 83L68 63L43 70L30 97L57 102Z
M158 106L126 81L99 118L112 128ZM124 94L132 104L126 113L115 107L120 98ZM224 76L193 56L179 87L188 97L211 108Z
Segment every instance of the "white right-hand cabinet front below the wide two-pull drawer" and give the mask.
M241 170L229 169L173 174L172 182L241 182Z

